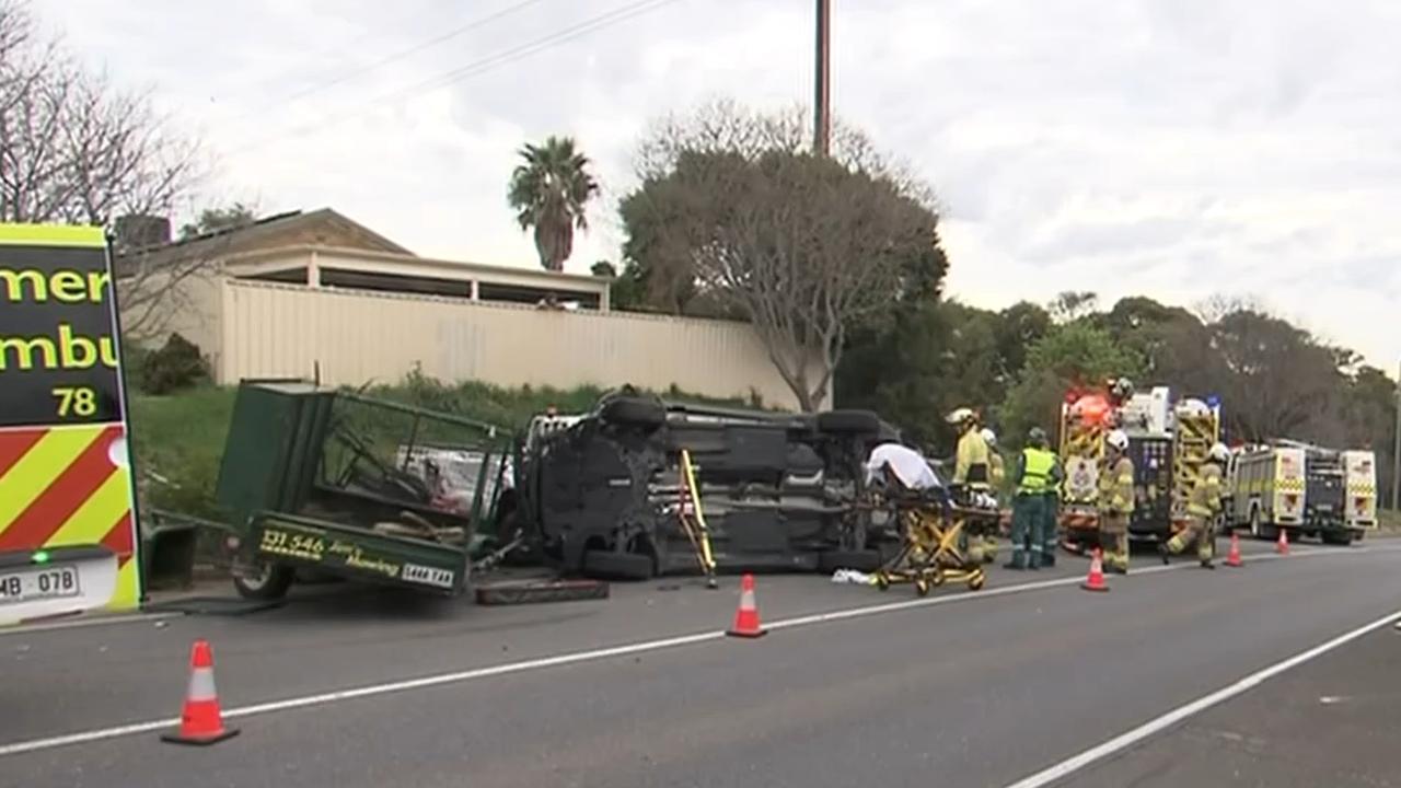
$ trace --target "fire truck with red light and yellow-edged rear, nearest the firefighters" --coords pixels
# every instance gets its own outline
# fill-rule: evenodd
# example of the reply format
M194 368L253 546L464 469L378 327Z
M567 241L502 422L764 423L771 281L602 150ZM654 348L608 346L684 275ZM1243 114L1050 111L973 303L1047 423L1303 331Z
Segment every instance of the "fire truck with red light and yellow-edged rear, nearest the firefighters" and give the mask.
M1098 541L1104 439L1114 429L1128 435L1133 461L1129 536L1161 541L1187 519L1187 496L1220 439L1220 402L1178 398L1166 386L1135 393L1126 380L1066 395L1058 436L1065 470L1059 519L1065 547L1073 552Z

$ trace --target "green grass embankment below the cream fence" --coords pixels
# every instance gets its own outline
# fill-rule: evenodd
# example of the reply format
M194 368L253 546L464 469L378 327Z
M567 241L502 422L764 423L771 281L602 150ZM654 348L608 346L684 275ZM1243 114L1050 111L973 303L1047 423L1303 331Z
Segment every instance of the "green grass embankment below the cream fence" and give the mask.
M143 484L144 506L223 519L214 502L214 484L234 411L234 391L233 387L207 387L167 397L133 397L132 442L137 473L158 474L167 480ZM401 384L374 387L366 394L520 429L551 405L562 414L588 411L604 390L588 386L570 390L506 388L475 381L444 384L410 374ZM761 405L675 390L663 395L695 402Z

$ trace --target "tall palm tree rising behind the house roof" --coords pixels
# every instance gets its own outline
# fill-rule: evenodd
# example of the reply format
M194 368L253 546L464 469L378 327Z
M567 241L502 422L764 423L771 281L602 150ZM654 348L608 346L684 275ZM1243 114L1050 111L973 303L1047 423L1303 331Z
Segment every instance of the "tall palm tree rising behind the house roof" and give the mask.
M544 144L527 144L520 157L524 163L511 174L506 199L516 209L521 230L535 229L541 268L560 271L574 250L574 227L588 229L584 208L598 192L598 182L572 137L552 136Z

